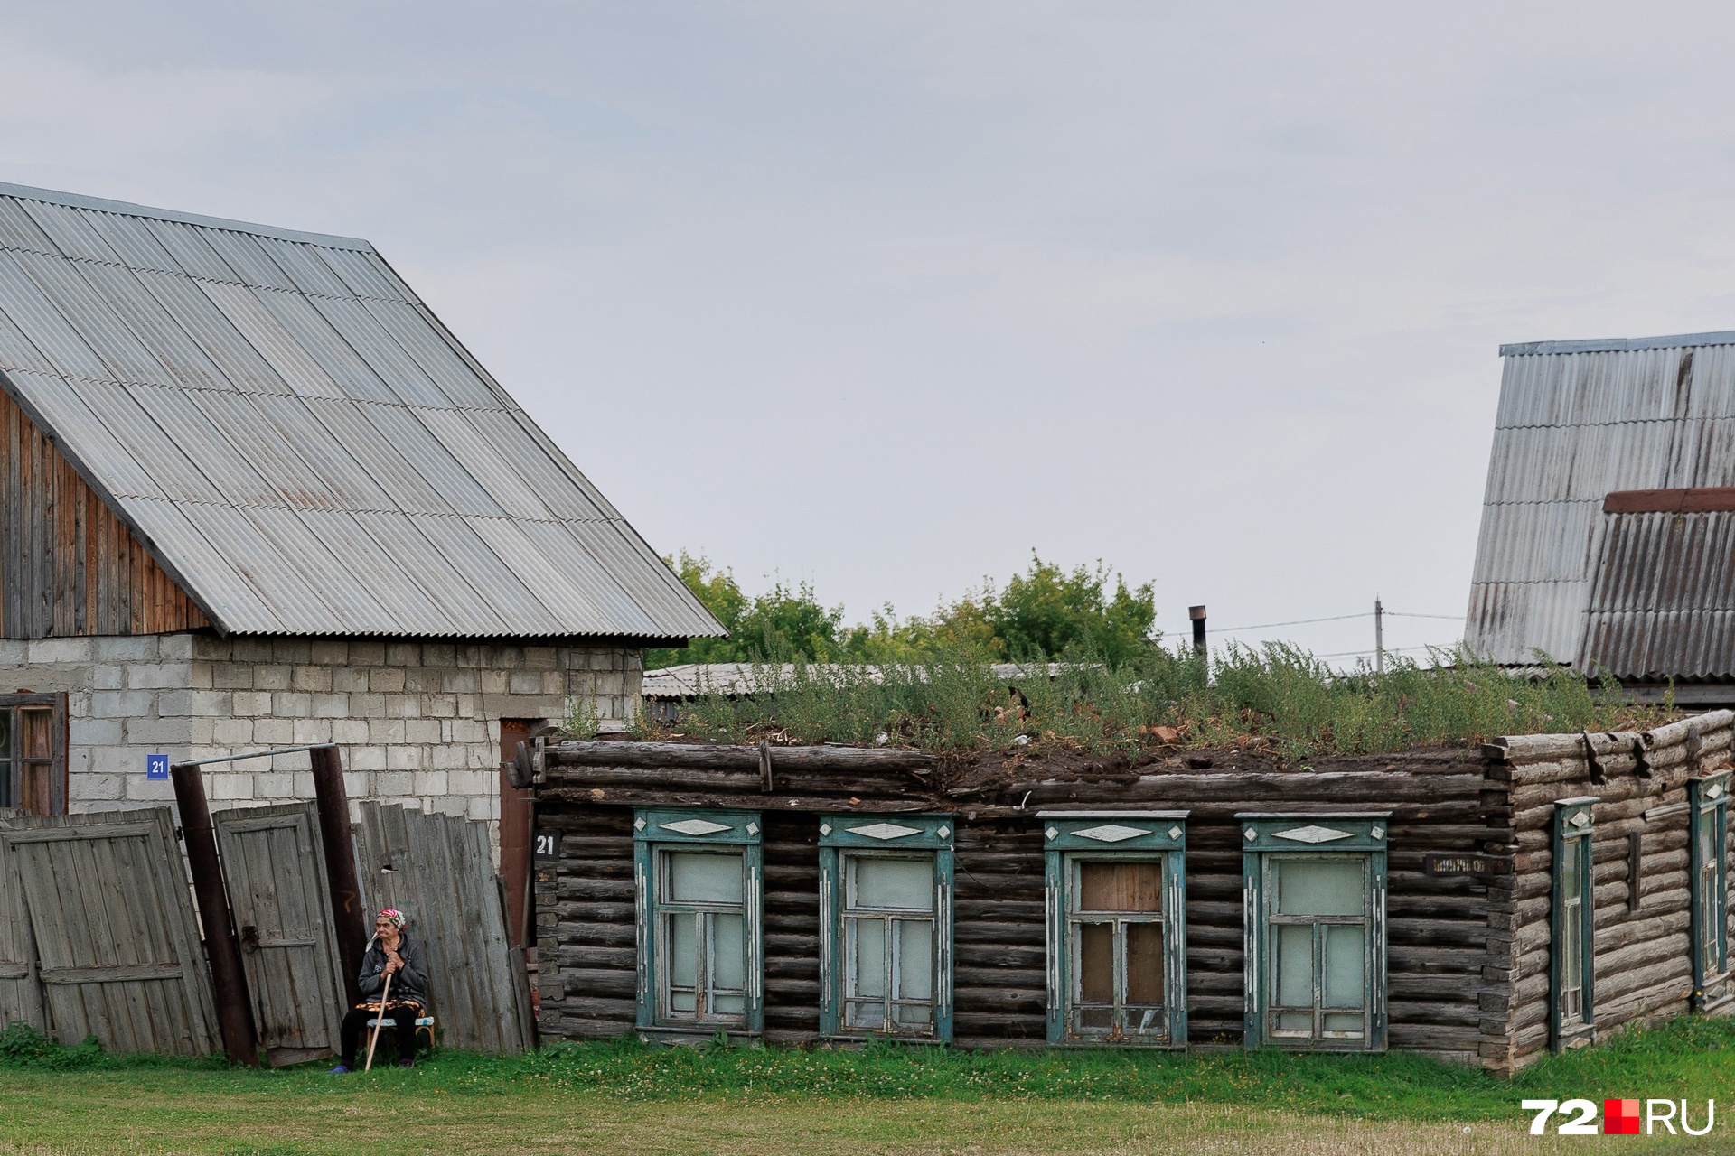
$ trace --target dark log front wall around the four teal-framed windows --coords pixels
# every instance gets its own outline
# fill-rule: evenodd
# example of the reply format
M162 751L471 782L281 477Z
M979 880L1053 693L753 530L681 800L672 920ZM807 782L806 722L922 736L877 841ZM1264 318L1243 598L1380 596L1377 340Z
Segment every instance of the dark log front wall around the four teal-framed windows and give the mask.
M633 1028L632 808L713 806L765 816L765 1038L819 1038L819 811L956 811L954 1043L1044 1040L1043 834L1036 809L1192 809L1187 825L1188 1024L1194 1043L1242 1036L1242 898L1237 811L1390 809L1390 1045L1463 1062L1482 1057L1490 972L1489 886L1426 875L1424 854L1483 853L1490 825L1475 752L1336 759L1315 771L1237 768L1003 782L953 789L921 768L774 771L756 754L701 749L687 766L576 764L550 749L538 825L562 832L538 867L541 1033L616 1036ZM777 750L776 759L798 759ZM706 757L715 766L694 766ZM817 754L814 757L819 757ZM854 799L854 806L852 806ZM1022 804L1022 806L1020 806Z

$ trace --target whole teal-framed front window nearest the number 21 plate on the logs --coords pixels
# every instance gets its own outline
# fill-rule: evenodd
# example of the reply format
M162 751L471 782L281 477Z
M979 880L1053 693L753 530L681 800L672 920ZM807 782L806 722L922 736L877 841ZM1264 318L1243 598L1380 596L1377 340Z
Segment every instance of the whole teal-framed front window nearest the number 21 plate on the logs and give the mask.
M638 1029L765 1029L765 858L758 811L633 813Z

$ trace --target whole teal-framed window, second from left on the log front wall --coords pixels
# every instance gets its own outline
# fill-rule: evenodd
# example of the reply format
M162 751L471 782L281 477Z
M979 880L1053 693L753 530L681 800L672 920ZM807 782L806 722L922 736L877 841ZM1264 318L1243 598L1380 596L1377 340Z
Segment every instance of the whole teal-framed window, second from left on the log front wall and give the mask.
M954 815L819 816L819 1031L953 1038Z

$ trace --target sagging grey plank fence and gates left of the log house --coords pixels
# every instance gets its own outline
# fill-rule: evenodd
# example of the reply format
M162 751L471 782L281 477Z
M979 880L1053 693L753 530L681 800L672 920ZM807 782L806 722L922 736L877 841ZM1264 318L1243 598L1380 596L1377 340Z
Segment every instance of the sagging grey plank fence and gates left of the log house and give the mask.
M219 811L224 887L271 1064L338 1049L344 976L314 804ZM488 825L364 804L364 898L411 919L448 1047L534 1047L522 953L507 939ZM0 1023L104 1050L222 1050L210 969L168 808L0 813Z

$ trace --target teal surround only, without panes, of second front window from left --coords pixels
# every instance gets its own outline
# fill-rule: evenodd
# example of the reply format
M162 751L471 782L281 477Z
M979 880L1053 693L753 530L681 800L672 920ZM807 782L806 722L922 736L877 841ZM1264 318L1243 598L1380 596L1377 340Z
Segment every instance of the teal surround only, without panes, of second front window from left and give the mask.
M828 1040L951 1043L953 1038L953 839L956 815L819 816L819 1035ZM848 983L845 912L847 860L930 858L933 861L933 1016L921 1031L855 1028L843 1023ZM890 1000L890 993L887 995Z

